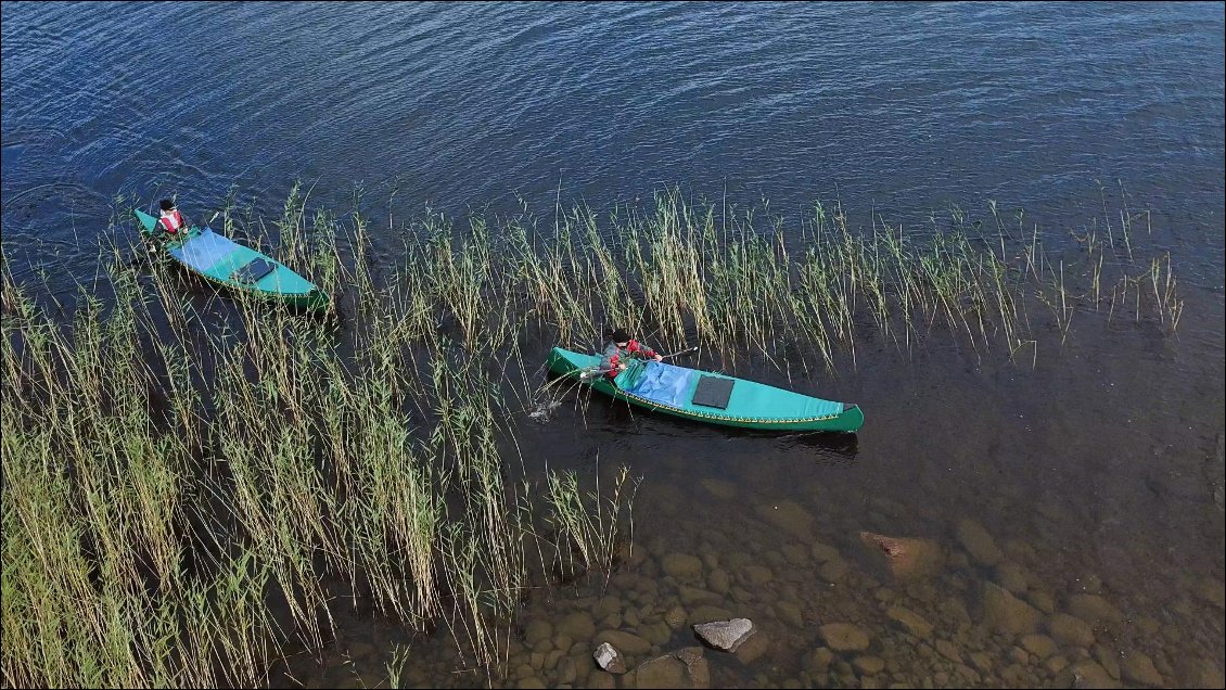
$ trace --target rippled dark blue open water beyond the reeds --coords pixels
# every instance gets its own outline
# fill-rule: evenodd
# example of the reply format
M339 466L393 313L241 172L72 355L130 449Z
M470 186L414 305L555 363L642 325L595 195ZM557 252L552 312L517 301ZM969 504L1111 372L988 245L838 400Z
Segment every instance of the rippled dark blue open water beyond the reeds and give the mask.
M1123 181L1192 249L1222 218L1222 7L6 4L9 234L120 191L548 213L682 185L907 219L1078 222ZM67 186L65 186L67 185ZM395 194L392 194L395 192ZM389 200L390 203L389 203ZM1177 226L1177 227L1176 227ZM1221 283L1213 267L1187 267ZM1216 276L1214 275L1216 273ZM1216 279L1215 279L1216 277Z

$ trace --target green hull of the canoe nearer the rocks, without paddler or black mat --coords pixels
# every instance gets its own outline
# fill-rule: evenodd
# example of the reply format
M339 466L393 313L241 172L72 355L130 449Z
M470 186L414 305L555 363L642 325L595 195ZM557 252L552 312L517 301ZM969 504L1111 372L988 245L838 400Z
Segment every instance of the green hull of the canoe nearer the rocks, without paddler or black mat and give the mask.
M598 363L600 358L596 355L558 347L549 353L548 360L550 371L576 379L585 371L591 371ZM646 366L652 366L652 364ZM695 382L689 384L687 391L669 402L662 402L658 396L657 400L652 400L639 395L636 386L628 385L630 384L629 373L618 376L618 386L602 375L581 380L596 391L638 407L722 427L769 431L857 431L864 424L864 413L857 404L823 401L765 384L706 371L682 370L693 371ZM729 395L725 409L690 402L694 398L698 377L731 381L728 386L733 392ZM737 396L741 400L737 400Z

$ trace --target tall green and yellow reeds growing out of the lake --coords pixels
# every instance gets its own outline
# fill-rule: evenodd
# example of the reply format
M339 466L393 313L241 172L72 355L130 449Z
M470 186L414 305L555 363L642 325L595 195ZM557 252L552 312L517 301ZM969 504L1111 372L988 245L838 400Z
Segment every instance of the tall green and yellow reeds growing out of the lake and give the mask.
M444 629L497 677L532 588L607 583L631 548L641 478L530 471L516 441L526 411L570 393L538 355L595 347L608 315L723 366L813 376L855 365L868 333L1036 366L1038 339L1080 320L1173 333L1183 310L1170 256L1143 257L1150 213L1106 201L1059 254L996 203L915 229L855 227L837 203L793 227L674 191L546 223L427 213L394 233L386 278L368 219L306 201L295 186L272 254L340 294L340 319L201 309L183 275L108 246L105 289L61 322L5 251L5 685L266 685L359 603ZM229 237L266 229L226 211Z

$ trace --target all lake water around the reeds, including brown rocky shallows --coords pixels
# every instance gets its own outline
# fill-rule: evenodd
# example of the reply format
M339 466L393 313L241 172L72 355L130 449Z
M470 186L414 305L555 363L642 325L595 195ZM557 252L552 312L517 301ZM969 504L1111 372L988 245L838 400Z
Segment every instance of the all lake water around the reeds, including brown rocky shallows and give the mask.
M715 686L1221 685L1222 4L5 2L0 27L4 250L61 295L98 272L118 194L175 192L190 214L234 189L272 214L302 179L313 203L363 190L383 228L428 205L548 214L673 185L790 219L839 199L864 224L996 200L1062 238L1105 205L1118 217L1123 185L1171 254L1175 336L1090 311L1063 347L1041 333L1034 365L864 343L855 369L788 384L861 403L853 441L602 400L522 424L522 447L548 449L530 469L644 477L638 549L604 598L535 596L494 683L606 683L592 631L646 640L642 662L695 643L672 607L715 605L765 641L707 651ZM392 238L374 241L392 265ZM946 564L895 586L861 531L932 539ZM992 632L997 585L1057 651ZM340 623L322 665L272 683L371 686L394 645L413 683L485 683L445 635ZM828 658L830 623L867 648Z

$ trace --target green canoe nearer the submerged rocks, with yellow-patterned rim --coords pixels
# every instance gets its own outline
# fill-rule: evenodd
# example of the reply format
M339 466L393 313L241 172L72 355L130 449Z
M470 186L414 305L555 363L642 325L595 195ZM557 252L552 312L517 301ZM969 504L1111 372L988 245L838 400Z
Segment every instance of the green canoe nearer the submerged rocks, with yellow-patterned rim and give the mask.
M636 362L618 374L614 389L607 376L593 374L600 363L598 355L560 347L549 353L549 369L555 374L579 377L617 400L696 422L776 431L856 431L864 423L856 404L662 362Z

